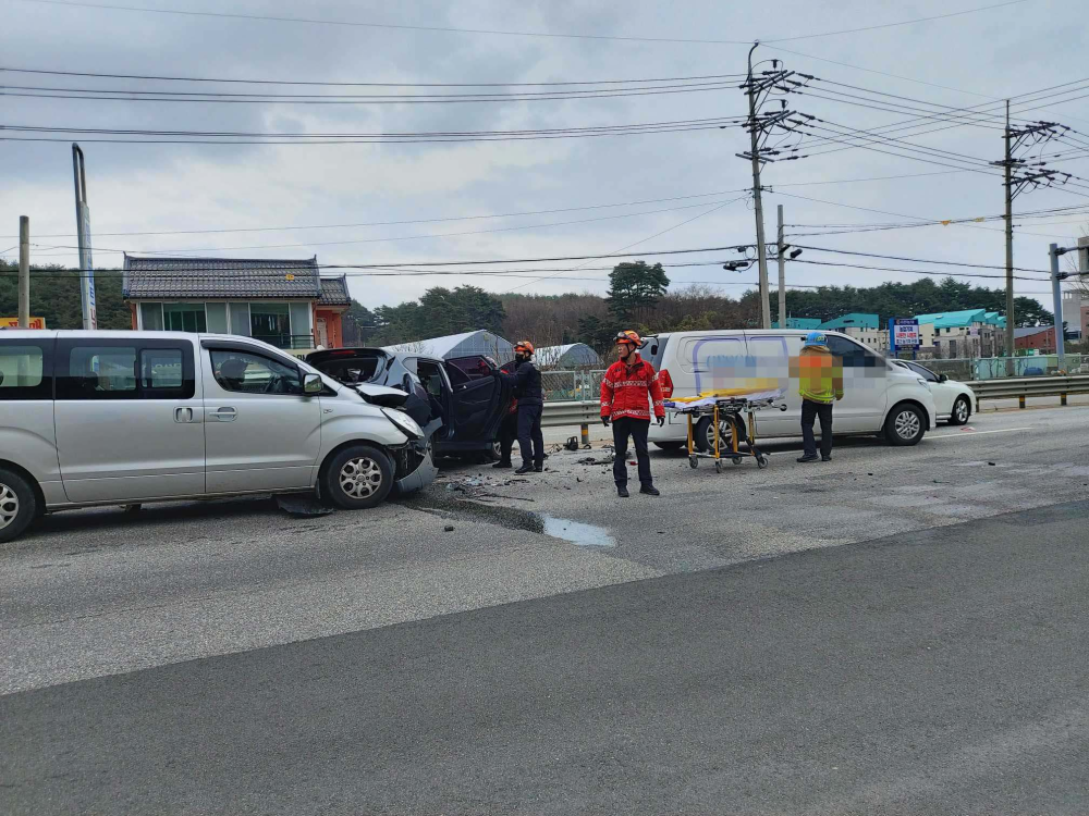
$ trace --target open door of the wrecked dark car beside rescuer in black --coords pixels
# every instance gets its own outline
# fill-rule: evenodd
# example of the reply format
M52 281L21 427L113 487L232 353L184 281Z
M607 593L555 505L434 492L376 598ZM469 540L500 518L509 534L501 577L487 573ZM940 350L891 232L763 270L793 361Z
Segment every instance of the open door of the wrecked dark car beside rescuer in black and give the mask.
M455 357L443 364L453 388L453 440L464 445L494 442L511 405L511 386L495 376L495 366L481 355Z

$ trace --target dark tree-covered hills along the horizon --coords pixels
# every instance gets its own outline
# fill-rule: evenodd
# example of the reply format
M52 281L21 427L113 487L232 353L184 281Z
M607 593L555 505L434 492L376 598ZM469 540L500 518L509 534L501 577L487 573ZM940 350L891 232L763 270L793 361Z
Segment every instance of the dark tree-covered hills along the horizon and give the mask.
M98 320L102 329L129 329L129 307L121 298L119 270L100 270L95 279ZM1015 300L1018 326L1051 325L1052 316L1030 297ZM16 267L0 261L0 316L16 313ZM772 297L772 311L775 298ZM832 320L847 312L876 313L882 321L960 309L1005 311L1005 290L962 283L952 277L923 277L911 283L870 287L819 286L790 289L786 309L793 318ZM76 270L35 267L30 312L50 329L82 325L79 277ZM344 317L346 345L393 345L458 334L478 329L507 339L530 339L539 347L586 343L607 353L616 332L643 334L677 330L755 329L760 324L756 290L739 297L714 287L689 285L670 289L661 264L644 261L617 264L609 276L605 297L588 293L563 295L493 295L477 286L435 286L418 300L374 309L353 300Z

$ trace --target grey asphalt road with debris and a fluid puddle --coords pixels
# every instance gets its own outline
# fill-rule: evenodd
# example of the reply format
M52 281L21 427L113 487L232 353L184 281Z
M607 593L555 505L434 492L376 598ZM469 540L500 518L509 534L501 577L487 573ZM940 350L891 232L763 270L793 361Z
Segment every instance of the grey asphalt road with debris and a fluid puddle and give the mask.
M1087 813L1087 420L52 517L0 553L0 812Z

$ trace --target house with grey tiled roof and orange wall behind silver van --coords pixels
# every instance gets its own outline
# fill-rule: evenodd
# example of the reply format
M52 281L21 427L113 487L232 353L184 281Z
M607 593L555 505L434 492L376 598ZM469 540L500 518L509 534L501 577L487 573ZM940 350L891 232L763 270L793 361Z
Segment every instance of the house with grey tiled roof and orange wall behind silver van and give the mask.
M167 258L125 255L122 295L133 329L237 334L299 356L341 345L347 279L317 257Z

